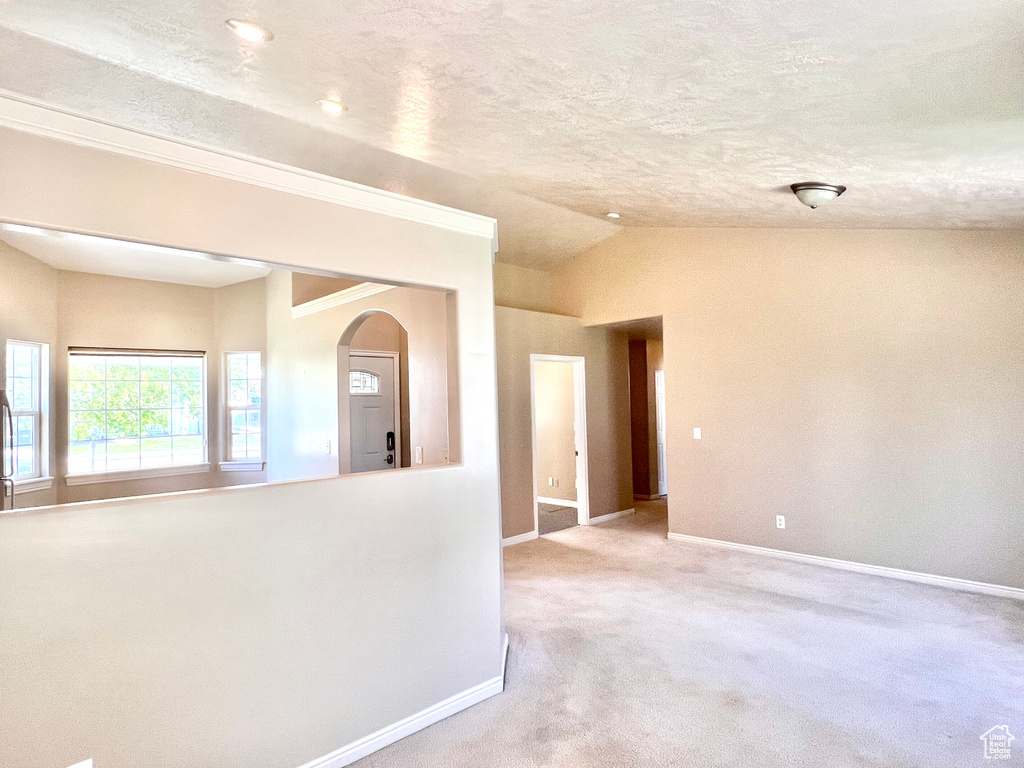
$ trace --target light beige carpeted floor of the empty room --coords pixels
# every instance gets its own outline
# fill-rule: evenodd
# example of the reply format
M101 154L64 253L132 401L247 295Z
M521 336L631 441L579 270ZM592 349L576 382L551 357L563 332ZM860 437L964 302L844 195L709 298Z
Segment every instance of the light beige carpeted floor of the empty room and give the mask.
M1024 603L668 542L664 502L505 550L506 691L359 768L1024 764Z

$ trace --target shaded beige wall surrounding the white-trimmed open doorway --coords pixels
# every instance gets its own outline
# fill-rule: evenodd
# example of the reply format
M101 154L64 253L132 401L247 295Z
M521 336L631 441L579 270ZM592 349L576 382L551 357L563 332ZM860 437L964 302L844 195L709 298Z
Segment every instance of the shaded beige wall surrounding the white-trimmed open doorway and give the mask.
M529 355L586 357L590 516L633 506L627 340L579 318L497 307L498 417L505 538L534 530Z

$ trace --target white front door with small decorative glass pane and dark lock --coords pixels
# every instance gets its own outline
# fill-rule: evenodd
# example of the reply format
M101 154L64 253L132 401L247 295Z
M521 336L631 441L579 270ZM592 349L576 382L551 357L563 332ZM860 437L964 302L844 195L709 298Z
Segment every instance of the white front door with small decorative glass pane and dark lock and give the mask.
M400 455L394 418L394 358L353 354L348 359L352 471L395 469Z

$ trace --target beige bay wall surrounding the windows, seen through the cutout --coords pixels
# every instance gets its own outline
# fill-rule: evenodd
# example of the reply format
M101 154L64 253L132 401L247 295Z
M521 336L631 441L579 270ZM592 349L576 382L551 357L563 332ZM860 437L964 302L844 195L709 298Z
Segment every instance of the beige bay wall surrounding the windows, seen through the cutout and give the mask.
M226 415L221 387L223 353L265 348L262 280L220 289L53 269L0 243L9 281L4 338L50 345L50 439L45 447L50 488L19 492L17 507L163 494L259 482L265 472L221 472ZM196 349L207 352L207 423L211 469L169 477L68 485L68 349Z

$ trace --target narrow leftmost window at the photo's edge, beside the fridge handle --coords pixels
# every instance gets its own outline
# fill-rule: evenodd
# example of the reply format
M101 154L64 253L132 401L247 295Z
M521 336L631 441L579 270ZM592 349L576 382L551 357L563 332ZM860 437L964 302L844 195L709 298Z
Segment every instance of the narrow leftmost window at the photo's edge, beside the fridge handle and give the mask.
M46 344L7 342L7 397L14 433L9 437L4 469L15 480L41 477L45 469L48 350Z

